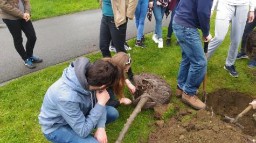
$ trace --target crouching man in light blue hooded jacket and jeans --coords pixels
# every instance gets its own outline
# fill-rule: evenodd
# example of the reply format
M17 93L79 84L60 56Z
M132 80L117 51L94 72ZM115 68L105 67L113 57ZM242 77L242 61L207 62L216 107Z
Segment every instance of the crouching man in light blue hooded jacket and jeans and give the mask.
M38 116L41 130L52 142L107 142L105 124L118 112L106 106L106 88L116 82L117 67L80 58L47 90ZM94 136L92 130L96 129Z

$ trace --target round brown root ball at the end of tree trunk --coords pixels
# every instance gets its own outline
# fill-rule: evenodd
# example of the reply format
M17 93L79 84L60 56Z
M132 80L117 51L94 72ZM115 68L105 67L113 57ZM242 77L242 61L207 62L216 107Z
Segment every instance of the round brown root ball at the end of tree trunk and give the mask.
M136 87L136 92L133 95L135 105L140 101L143 93L147 93L149 96L149 100L143 109L170 103L172 96L171 87L162 78L153 73L141 73L135 75L133 80Z

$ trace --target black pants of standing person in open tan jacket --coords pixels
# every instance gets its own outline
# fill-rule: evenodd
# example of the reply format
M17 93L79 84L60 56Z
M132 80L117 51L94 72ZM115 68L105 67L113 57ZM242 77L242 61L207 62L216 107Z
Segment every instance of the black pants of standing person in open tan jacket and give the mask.
M124 43L126 42L126 29L127 22L116 28L113 17L102 15L100 24L100 50L103 57L111 57L111 53L109 51L110 41L113 42L116 52L122 51L127 53L126 49L124 49ZM128 70L127 74L128 78L132 80L133 72L131 68Z

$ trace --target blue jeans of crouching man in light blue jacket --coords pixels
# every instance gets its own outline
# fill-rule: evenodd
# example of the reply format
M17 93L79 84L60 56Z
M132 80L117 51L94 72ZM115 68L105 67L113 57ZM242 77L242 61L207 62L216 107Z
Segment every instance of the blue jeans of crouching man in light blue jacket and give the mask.
M106 124L110 122L116 121L118 117L118 111L114 107L106 106L107 110L107 122ZM91 134L89 134L86 138L81 138L78 136L78 134L69 126L64 125L59 127L57 130L53 131L49 134L44 134L47 140L51 142L86 142L86 143L93 143L93 142L99 142L96 140Z

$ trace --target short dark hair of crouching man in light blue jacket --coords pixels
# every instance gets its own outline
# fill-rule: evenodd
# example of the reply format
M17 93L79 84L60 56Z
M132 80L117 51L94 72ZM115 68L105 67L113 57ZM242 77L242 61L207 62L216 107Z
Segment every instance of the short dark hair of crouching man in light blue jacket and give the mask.
M101 59L89 66L86 78L91 86L110 86L116 82L117 71L116 66Z

